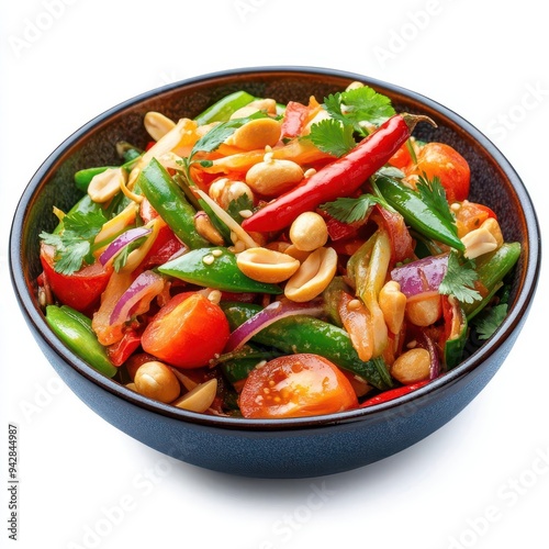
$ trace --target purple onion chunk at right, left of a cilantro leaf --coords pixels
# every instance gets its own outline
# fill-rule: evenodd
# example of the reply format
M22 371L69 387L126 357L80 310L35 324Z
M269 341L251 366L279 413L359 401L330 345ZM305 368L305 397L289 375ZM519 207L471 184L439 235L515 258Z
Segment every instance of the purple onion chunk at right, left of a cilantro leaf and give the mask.
M438 291L448 269L448 254L430 256L395 267L391 279L399 282L401 292L412 298L424 292Z

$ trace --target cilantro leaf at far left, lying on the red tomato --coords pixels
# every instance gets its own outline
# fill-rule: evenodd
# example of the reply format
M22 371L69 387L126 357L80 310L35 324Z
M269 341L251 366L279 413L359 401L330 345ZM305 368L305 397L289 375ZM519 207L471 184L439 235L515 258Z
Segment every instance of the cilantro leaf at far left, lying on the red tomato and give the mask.
M105 222L107 219L100 209L74 212L63 217L61 232L42 232L40 237L55 248L55 271L72 274L80 270L85 261L93 262L91 246Z

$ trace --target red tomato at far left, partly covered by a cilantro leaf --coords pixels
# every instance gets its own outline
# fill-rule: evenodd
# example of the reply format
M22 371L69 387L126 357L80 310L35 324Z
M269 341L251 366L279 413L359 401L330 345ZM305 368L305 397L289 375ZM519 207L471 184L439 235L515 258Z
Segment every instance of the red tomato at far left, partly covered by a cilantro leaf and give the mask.
M107 288L112 268L94 262L72 274L63 274L54 269L54 253L53 246L41 245L40 260L52 291L64 305L81 313L88 312Z

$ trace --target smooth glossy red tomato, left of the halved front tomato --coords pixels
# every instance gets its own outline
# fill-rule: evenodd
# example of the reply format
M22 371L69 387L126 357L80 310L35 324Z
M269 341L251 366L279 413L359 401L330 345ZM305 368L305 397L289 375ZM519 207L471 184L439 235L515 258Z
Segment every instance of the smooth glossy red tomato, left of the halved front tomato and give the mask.
M229 336L219 305L200 293L180 293L154 316L142 336L145 352L178 368L205 366Z

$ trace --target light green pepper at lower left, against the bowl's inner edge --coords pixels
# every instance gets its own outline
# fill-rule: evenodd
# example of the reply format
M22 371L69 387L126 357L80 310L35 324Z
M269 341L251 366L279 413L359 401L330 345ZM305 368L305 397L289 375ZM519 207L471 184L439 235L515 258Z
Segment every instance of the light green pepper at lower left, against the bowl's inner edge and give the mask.
M67 305L48 305L46 322L55 335L96 370L112 378L117 369L91 329L91 320Z

